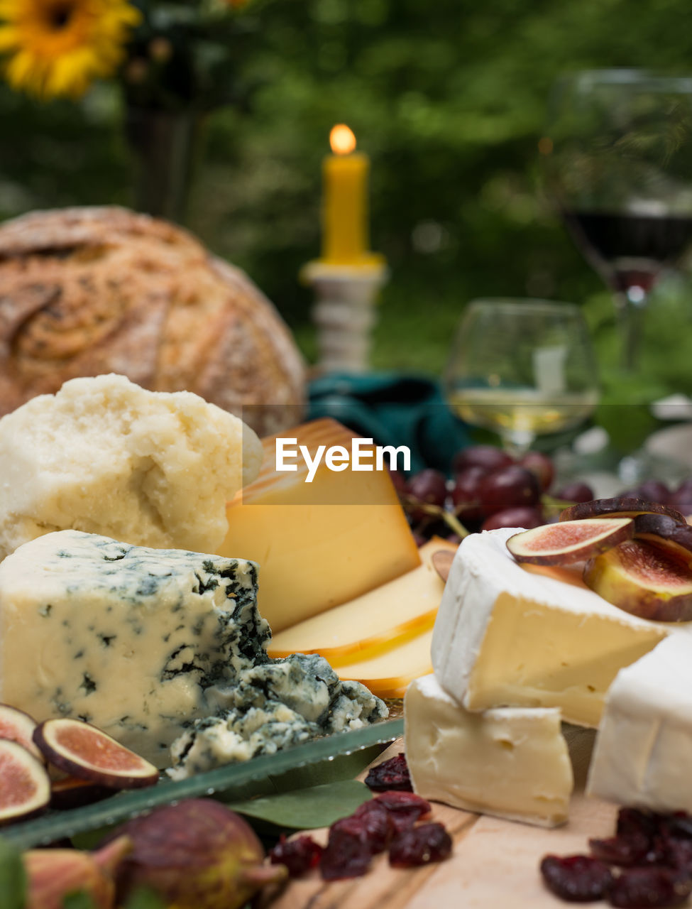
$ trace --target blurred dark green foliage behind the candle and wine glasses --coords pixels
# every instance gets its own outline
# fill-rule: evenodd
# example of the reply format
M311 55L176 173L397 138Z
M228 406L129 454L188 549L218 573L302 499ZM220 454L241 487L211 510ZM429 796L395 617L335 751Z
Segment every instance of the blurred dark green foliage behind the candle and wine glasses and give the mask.
M692 70L683 0L257 0L233 65L253 91L207 122L189 226L242 265L314 353L321 157L344 121L372 159L372 246L387 256L373 364L437 374L463 306L537 295L586 307L607 400L692 391L692 294L664 285L638 382L623 384L608 294L541 193L537 144L565 70ZM78 105L0 90L0 217L132 203L114 85Z

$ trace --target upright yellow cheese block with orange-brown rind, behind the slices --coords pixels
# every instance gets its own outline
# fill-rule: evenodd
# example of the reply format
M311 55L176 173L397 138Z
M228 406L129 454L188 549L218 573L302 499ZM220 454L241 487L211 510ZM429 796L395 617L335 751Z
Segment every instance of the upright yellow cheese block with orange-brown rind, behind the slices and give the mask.
M282 434L314 456L319 445L351 447L353 434L316 420ZM260 612L272 632L386 584L420 565L387 471L275 471L275 436L264 439L258 479L227 506L220 554L260 564ZM244 553L244 555L241 555Z

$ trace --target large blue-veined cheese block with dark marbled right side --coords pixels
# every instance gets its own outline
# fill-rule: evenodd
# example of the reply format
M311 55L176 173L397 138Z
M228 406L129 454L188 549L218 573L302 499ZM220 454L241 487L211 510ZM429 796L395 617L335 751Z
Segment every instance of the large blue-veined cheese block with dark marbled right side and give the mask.
M92 723L156 766L211 686L267 661L252 562L78 531L0 564L0 701Z

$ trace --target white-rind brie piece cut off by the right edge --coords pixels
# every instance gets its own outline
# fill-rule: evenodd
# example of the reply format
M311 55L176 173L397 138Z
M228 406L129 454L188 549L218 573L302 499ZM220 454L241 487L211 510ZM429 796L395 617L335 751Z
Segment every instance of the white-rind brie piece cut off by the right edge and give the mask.
M692 812L692 638L676 634L610 686L587 794Z

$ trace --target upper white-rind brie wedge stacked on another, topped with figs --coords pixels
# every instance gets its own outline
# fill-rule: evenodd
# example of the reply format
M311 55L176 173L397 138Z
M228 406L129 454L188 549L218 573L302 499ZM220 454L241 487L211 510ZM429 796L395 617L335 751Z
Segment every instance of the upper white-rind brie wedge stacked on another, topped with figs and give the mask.
M460 544L432 638L435 675L467 710L559 707L568 723L598 726L618 671L671 625L630 615L584 584L529 573L506 547L516 533Z

